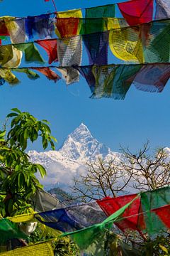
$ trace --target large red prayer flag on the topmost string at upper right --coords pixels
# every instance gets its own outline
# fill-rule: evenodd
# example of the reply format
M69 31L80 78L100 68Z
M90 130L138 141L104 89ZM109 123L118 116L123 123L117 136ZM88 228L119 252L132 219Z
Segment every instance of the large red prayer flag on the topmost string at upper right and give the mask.
M119 3L118 7L130 26L152 21L154 0L131 0Z

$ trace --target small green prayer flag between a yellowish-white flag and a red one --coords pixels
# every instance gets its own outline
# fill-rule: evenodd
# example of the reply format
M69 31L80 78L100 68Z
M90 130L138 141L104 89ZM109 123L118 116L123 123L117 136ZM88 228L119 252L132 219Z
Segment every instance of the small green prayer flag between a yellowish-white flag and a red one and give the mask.
M18 44L13 44L13 46L25 53L26 63L31 63L31 62L44 63L44 60L40 55L38 48L36 48L36 46L34 45L34 43L18 43Z

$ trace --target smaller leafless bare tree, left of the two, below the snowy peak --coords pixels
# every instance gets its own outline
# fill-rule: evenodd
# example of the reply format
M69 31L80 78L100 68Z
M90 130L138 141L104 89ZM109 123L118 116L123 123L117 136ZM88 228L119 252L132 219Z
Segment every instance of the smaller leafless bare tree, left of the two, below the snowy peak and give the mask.
M74 178L73 193L81 201L98 200L106 196L117 196L125 192L132 174L125 175L120 169L116 159L103 161L98 158L92 163L87 163L87 172L79 178ZM129 173L128 173L129 174Z

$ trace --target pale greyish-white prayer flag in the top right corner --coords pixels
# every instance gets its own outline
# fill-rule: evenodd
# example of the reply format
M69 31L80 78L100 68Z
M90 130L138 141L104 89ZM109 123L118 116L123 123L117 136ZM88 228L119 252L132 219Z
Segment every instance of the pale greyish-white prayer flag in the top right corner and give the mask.
M170 18L170 1L156 0L155 19Z

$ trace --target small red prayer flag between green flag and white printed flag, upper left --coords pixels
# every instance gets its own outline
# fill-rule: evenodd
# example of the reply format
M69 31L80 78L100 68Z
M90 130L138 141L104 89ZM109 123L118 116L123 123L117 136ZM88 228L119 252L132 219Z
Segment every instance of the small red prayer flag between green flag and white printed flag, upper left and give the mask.
M48 63L51 64L53 61L58 61L57 55L57 39L52 40L38 40L36 41L42 48L44 48L49 57Z

